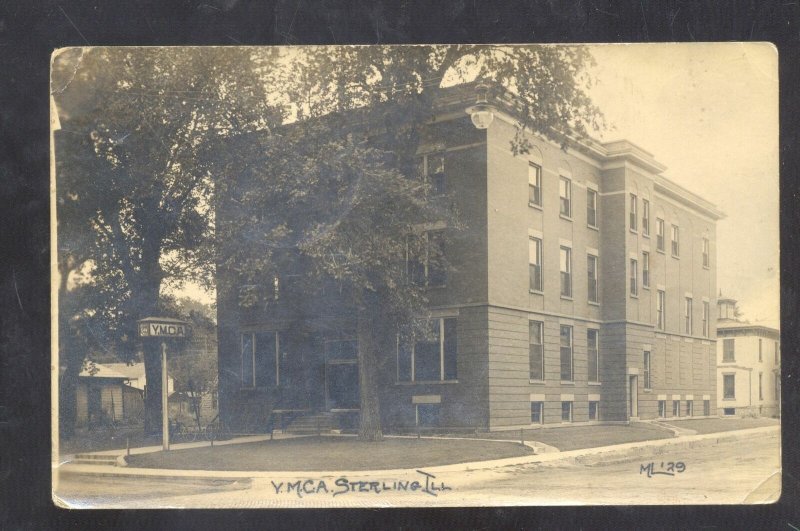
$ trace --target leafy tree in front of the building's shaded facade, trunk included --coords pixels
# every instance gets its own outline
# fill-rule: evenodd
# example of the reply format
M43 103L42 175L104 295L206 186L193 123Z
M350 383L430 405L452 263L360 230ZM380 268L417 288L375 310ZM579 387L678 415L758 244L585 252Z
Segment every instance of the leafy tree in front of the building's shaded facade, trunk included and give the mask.
M415 178L439 89L492 81L516 101L515 154L529 149L532 131L566 149L602 122L586 93L590 61L584 48L548 46L306 48L284 58L281 87L296 121L261 138L237 138L240 161L217 172L238 182L219 188L236 203L219 227L219 263L244 280L244 306L273 296L264 286L289 271L308 277L304 286L334 280L349 297L361 438L382 438L377 375L386 360L378 353L392 350L397 332L385 323L413 329L427 302L401 266L406 253L426 252L424 238L409 236L426 222L458 226L457 213ZM235 238L242 234L247 245Z

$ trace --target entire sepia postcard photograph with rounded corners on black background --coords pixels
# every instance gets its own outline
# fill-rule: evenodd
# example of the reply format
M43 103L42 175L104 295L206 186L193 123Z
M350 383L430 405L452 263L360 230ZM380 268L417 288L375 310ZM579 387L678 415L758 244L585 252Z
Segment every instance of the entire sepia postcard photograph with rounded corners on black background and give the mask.
M71 47L58 507L768 504L770 43Z

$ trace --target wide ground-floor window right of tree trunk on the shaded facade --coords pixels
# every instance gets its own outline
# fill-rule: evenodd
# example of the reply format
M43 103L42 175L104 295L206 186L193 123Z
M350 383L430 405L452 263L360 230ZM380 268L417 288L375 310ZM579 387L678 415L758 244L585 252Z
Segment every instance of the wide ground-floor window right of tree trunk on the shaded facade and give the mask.
M436 382L457 378L457 332L454 317L430 319L415 337L398 338L398 381Z

